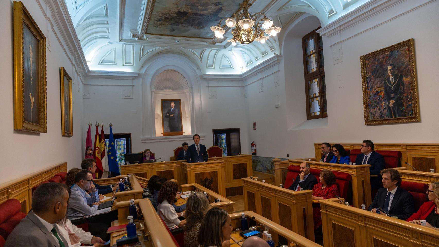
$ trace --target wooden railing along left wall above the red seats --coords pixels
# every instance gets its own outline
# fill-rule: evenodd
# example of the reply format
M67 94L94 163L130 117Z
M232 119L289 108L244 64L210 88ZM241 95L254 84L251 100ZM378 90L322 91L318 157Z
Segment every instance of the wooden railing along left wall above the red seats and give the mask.
M67 172L67 162L52 165L38 172L0 184L0 204L15 198L22 205L22 212L28 213L32 208L32 188L52 178L58 172Z

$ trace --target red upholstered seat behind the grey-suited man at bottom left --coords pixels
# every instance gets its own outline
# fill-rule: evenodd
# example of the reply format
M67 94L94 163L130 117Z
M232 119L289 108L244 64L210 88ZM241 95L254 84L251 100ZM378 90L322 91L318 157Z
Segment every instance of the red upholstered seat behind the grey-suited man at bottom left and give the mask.
M22 205L17 199L9 199L0 205L0 236L4 240L12 232L15 226L26 217L25 213L21 212ZM0 246L1 240L0 240Z

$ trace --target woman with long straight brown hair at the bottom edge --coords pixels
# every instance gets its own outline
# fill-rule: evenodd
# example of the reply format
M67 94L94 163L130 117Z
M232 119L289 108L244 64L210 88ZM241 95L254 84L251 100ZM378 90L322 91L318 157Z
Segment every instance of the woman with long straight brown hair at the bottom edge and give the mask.
M198 232L200 247L230 247L232 221L227 211L211 208L201 222Z

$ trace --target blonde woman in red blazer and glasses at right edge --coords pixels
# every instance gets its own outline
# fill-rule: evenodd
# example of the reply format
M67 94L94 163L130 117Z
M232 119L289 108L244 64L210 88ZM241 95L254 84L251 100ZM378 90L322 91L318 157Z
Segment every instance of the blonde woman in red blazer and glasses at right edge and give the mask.
M428 201L422 204L421 208L406 221L421 225L421 220L425 220L425 226L439 229L439 182L431 183L426 193Z

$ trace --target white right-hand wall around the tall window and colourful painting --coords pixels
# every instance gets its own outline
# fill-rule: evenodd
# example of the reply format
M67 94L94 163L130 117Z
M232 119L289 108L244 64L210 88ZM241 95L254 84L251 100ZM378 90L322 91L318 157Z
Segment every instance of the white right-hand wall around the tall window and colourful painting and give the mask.
M429 4L402 14L410 4L414 2L400 1L400 4L371 16L359 25L341 28L341 63L333 64L330 40L324 37L327 123L322 120L294 120L304 117L305 102L296 102L295 97L304 100L305 92L304 81L299 79L302 75L294 78L291 71L300 70L303 74L303 59L301 52L288 49L286 46L291 42L295 49L301 51L302 48L296 46L298 39L294 34L285 34L287 37L283 43L284 61L281 63L284 68L280 72L284 74L285 81L281 81L281 86L278 86L280 89L266 87L264 84L263 92L259 92L258 83L247 87L249 122L256 122L257 127L255 131L249 131L249 138L257 143L258 156L287 158L286 155L290 154L290 158L313 157L313 143L321 142L360 143L364 139L370 139L375 143L437 143L439 115L436 112L439 104L436 98L439 84L436 82L436 67L439 64L439 1L430 1ZM393 18L396 13L401 15ZM378 21L386 19L390 20L373 27L380 23ZM309 31L316 27L310 27ZM365 31L360 32L362 30ZM358 34L349 38L352 33ZM414 38L421 122L364 125L360 56L410 38ZM299 64L300 68L294 67ZM267 81L270 79L267 78ZM285 89L285 93L281 92L282 89ZM277 95L281 95L281 102L297 104L284 104L280 108L274 108L273 101Z

